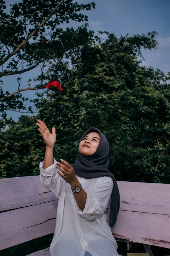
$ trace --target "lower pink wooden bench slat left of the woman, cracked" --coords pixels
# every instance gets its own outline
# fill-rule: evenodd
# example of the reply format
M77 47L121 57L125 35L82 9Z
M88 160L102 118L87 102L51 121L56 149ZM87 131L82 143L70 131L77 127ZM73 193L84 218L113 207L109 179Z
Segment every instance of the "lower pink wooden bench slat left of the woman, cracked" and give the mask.
M53 233L58 199L0 213L0 250Z

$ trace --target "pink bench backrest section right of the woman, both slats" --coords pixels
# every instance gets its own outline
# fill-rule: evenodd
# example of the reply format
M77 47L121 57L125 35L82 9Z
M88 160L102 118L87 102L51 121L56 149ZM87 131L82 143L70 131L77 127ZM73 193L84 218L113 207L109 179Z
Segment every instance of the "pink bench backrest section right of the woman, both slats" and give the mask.
M114 237L170 248L170 184L118 181Z

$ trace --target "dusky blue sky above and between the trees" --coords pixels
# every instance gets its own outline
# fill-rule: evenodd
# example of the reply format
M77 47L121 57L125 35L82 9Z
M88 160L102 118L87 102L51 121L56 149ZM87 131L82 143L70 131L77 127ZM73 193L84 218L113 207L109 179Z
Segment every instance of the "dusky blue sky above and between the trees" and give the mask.
M21 1L6 0L6 12L9 12L9 4L18 3ZM73 1L76 2L76 1ZM80 4L90 3L88 0L77 0ZM120 35L125 36L127 33L129 36L134 34L145 34L148 32L157 31L159 34L156 36L158 41L157 50L142 50L142 54L145 60L142 62L144 66L151 66L159 68L166 75L170 72L170 0L97 0L95 1L95 9L90 11L81 11L81 13L88 16L89 29L102 31L108 31L114 33L118 38ZM70 21L68 24L61 24L60 27L73 27L76 29L82 25L83 22ZM18 88L17 77L22 77L21 86L27 88L27 81L29 78L36 77L39 74L39 70L35 68L29 72L21 75L12 75L2 77L4 85L3 90L13 93ZM34 87L34 82L31 87ZM34 99L35 91L22 92L22 96L29 99ZM28 113L25 113L28 114ZM12 117L13 120L18 121L18 118L24 115L16 111L8 111L7 118Z

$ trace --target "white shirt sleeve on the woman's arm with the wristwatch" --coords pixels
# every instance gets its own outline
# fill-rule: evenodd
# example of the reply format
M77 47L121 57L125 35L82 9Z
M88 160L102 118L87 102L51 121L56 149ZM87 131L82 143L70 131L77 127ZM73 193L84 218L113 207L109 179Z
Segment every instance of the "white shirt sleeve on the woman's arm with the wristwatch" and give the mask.
M91 194L87 192L86 204L81 211L77 205L78 213L86 219L92 220L102 215L107 208L111 193L113 190L113 180L104 176L103 179L94 187Z

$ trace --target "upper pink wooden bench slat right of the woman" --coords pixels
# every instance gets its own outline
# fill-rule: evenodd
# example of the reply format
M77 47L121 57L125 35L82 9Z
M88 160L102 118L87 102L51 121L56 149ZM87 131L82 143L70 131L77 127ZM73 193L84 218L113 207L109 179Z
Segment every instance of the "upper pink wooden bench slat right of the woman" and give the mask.
M170 184L117 181L123 211L170 215Z

